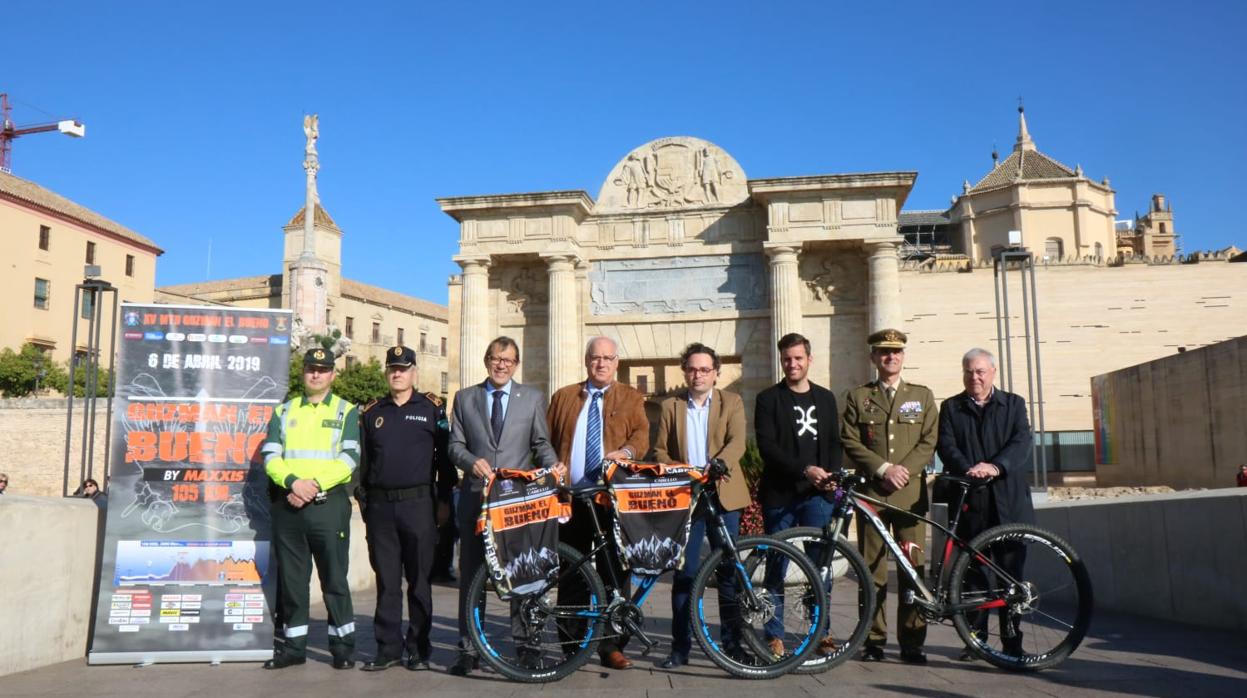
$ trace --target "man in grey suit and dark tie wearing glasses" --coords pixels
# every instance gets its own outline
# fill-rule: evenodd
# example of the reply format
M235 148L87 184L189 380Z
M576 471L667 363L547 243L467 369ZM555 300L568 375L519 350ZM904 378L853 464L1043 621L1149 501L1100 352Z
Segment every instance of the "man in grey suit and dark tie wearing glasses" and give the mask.
M481 490L496 469L527 470L536 454L542 467L559 466L550 447L546 400L540 390L511 380L520 365L520 348L499 337L485 350L489 376L455 393L450 410L450 462L463 472L459 490L459 661L450 673L466 676L478 657L463 614L468 586L485 563L485 545L476 535Z

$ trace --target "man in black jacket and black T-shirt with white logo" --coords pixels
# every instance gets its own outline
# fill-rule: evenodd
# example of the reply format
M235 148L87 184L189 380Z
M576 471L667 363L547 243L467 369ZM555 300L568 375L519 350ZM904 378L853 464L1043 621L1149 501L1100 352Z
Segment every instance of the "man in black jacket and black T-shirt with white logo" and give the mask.
M819 487L839 470L843 456L835 395L808 378L809 340L796 333L786 334L778 348L784 378L758 393L753 411L763 464L758 504L767 533L827 525L832 505ZM777 610L766 627L772 653L783 654L783 608ZM823 643L834 648L832 638L824 638ZM828 651L822 644L819 648Z

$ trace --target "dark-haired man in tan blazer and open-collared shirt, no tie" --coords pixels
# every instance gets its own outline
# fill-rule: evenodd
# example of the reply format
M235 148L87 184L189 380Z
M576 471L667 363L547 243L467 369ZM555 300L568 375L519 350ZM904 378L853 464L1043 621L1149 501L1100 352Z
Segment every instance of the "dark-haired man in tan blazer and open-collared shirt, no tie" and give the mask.
M734 393L715 388L718 380L720 359L713 349L701 343L690 344L680 355L680 368L685 371L687 388L662 401L658 437L653 445L658 462L686 462L706 465L711 459L727 464L727 477L718 484L718 500L723 510L723 525L733 538L741 531L741 510L749 505L749 489L741 472L744 455L744 403ZM693 512L685 547L685 565L676 571L671 587L671 654L662 668L673 669L688 663L692 636L688 624L688 596L701 558L702 538L711 545L722 543L722 532L707 526L705 511ZM736 611L736 583L732 570L718 578L718 606L721 628L720 642L732 652L739 644L738 629L733 623Z

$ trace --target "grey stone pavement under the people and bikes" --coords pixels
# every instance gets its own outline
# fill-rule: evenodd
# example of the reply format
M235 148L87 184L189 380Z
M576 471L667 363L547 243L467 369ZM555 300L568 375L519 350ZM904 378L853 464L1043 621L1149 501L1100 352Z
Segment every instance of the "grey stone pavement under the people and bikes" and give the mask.
M960 652L951 626L935 626L928 637L927 667L895 661L863 664L849 661L817 676L787 676L769 682L733 679L710 663L698 649L693 662L675 671L657 668L670 638L667 585L660 585L646 605L648 626L663 646L650 658L631 657L636 668L610 672L594 664L554 684L518 684L488 671L469 678L445 673L454 661L454 587L434 587L438 616L434 622L434 671L412 673L393 668L380 673L335 672L328 664L323 611L312 624L315 661L304 667L266 672L258 664L228 663L89 667L85 661L65 662L42 669L0 678L0 696L177 696L239 698L244 696L410 696L433 692L443 697L580 696L595 698L627 696L656 698L734 698L782 694L797 696L1206 696L1247 694L1247 642L1227 632L1175 627L1127 616L1099 613L1091 633L1064 664L1039 674L1013 674L981 662L956 661ZM892 595L894 596L894 595ZM372 591L355 595L359 654L373 651ZM894 618L894 611L889 611ZM6 632L12 632L11 629ZM890 649L890 648L889 648Z

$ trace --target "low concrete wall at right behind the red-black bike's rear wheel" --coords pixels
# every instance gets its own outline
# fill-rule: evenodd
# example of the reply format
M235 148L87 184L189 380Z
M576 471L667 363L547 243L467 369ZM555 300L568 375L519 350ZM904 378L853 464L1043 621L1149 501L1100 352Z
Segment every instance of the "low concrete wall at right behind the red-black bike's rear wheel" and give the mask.
M1051 502L1036 515L1082 557L1097 611L1247 629L1247 487Z

